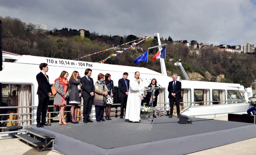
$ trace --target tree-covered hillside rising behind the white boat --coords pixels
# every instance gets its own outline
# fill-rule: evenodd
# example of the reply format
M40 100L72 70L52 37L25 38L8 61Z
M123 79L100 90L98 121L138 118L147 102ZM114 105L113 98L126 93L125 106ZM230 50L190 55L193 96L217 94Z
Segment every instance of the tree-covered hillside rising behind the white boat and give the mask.
M32 32L25 28L20 19L0 17L0 20L2 21L2 50L26 55L75 59L136 40L139 37L135 35L123 37L118 35L99 35L97 32L90 33L89 30L85 30L85 37L81 38L79 30L76 29L62 28L58 30L55 28L45 33ZM161 42L162 44L167 44L165 66L169 76L176 73L184 79L180 69L174 66L174 63L181 59L180 62L186 72L197 72L204 76L205 72L208 71L212 77L224 74L225 79L222 79L221 82L240 83L245 87L250 87L251 83L256 79L256 58L254 54L230 53L220 51L218 47L214 46L200 50L192 49L186 46L187 40L173 43L171 37L168 39L161 38ZM190 43L195 44L197 42L193 40ZM136 45L136 47L142 48L143 51L141 49L125 50L122 54L109 58L105 63L135 66L133 60L149 47L156 45L158 45L156 37L147 39ZM100 52L79 60L99 62L109 55L115 54L117 50L130 46L127 44L123 47ZM158 48L149 50L148 62L138 63L137 66L161 72L159 60L152 62L152 57L157 50ZM210 81L209 78L202 80Z

